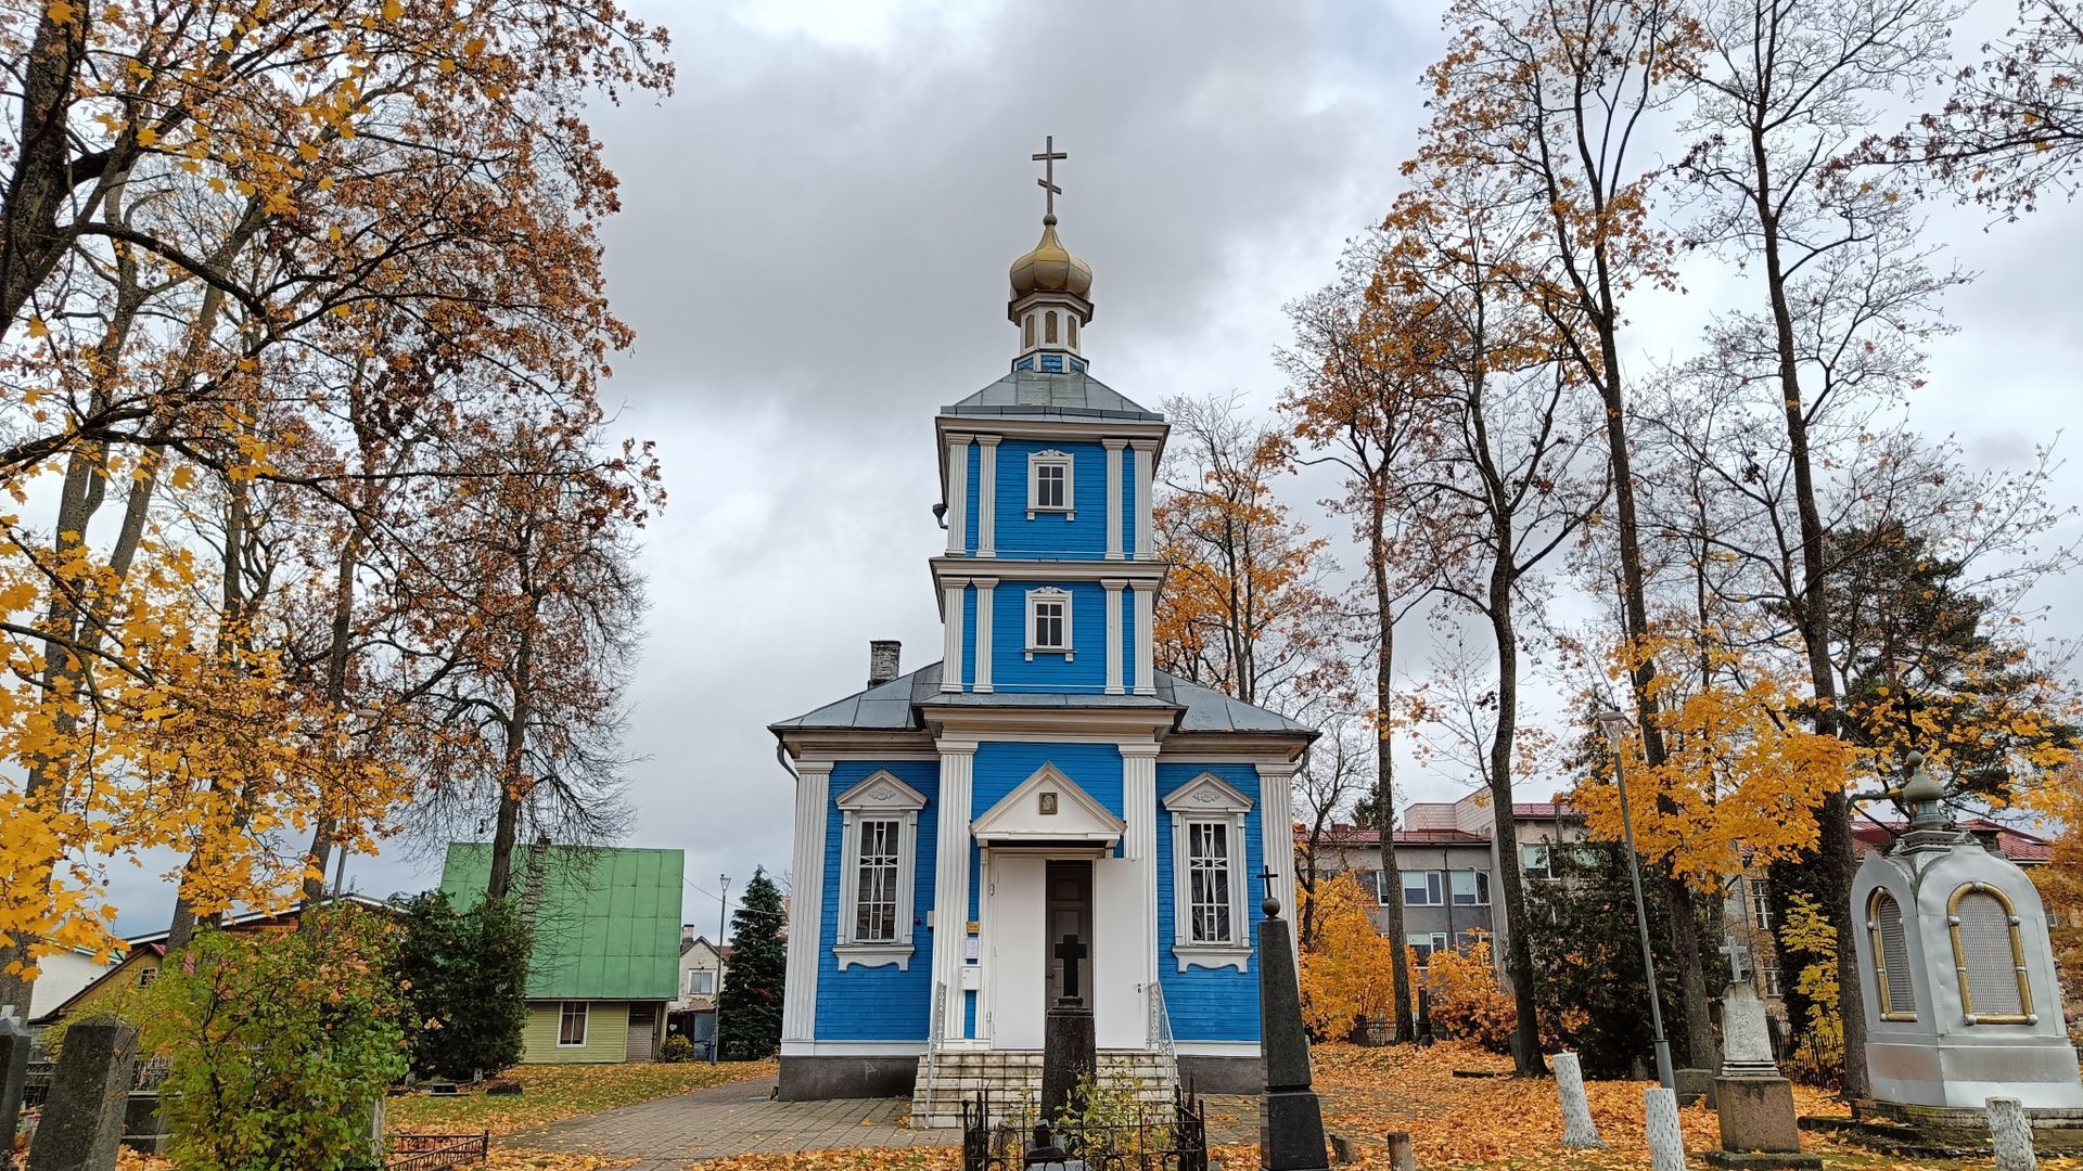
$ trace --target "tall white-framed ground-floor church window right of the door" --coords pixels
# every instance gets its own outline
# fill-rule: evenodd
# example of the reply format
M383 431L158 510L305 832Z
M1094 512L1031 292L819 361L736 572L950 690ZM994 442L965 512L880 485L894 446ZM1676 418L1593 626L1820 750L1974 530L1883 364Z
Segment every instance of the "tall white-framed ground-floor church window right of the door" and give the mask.
M1246 915L1244 821L1252 798L1214 773L1164 796L1173 819L1173 954L1187 967L1246 971L1252 954Z

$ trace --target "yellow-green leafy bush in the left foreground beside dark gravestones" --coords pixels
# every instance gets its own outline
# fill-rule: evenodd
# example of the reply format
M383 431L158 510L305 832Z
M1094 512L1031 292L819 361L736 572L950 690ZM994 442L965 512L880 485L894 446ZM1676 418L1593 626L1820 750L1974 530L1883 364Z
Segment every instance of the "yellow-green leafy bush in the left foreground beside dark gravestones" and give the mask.
M204 929L150 988L171 1056L160 1117L183 1171L340 1171L369 1163L369 1108L404 1075L396 929L317 906L298 931Z

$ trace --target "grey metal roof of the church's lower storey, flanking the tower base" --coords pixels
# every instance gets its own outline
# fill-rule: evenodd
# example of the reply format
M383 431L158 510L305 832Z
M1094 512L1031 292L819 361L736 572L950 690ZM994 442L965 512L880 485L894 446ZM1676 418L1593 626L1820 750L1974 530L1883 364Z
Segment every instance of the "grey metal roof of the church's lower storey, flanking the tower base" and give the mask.
M1262 731L1314 736L1316 729L1296 723L1275 711L1233 700L1212 688L1175 679L1158 671L1156 696L1102 696L1091 692L948 692L939 690L939 663L931 663L846 696L796 719L769 725L783 731L919 731L919 706L964 708L1173 708L1179 711L1179 731Z

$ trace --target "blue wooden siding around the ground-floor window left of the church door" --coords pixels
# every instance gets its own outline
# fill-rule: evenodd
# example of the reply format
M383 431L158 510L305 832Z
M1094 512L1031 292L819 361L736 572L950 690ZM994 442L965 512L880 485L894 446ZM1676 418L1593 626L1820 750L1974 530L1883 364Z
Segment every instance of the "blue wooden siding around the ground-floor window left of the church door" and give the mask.
M825 902L817 948L817 1038L827 1042L910 1042L925 1040L931 1015L933 933L925 929L925 913L933 906L933 852L939 840L939 763L937 761L842 761L831 769L831 796L864 781L877 769L887 769L906 786L925 794L919 813L919 867L912 875L912 946L910 969L850 967L839 971L831 954L839 940L839 865L846 842L839 806L825 811Z

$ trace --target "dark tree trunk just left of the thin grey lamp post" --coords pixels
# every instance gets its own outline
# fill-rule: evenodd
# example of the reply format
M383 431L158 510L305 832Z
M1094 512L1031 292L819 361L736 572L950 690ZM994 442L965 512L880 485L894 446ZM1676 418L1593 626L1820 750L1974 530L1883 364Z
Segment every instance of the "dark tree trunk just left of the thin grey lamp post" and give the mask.
M1504 886L1504 950L1519 1006L1519 1044L1512 1069L1521 1077L1548 1071L1541 1061L1541 1029L1533 1008L1533 944L1527 923L1527 892L1519 873L1519 823L1512 819L1512 740L1519 736L1519 636L1512 627L1512 521L1498 519L1489 569L1489 631L1498 640L1498 729L1489 740L1489 817L1496 827L1498 877Z

